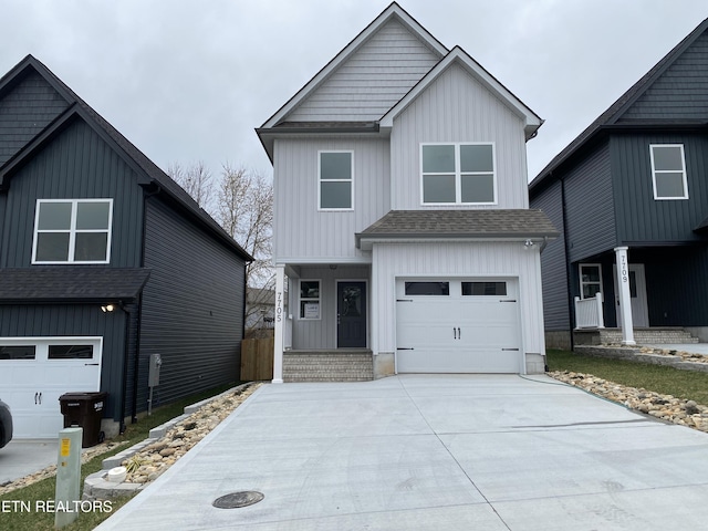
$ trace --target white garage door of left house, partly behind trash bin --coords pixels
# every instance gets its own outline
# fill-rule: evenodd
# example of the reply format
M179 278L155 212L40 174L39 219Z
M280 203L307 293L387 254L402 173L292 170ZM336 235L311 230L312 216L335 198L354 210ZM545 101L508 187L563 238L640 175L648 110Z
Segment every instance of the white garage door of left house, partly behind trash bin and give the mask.
M13 438L53 438L64 427L59 397L101 385L101 337L0 337L0 398Z

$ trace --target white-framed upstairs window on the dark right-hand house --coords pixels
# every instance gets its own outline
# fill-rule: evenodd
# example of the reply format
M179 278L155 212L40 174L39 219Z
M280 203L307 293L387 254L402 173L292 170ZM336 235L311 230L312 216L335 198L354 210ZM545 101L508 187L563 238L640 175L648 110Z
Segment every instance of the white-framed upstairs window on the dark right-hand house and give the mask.
M650 144L654 199L688 199L683 144Z

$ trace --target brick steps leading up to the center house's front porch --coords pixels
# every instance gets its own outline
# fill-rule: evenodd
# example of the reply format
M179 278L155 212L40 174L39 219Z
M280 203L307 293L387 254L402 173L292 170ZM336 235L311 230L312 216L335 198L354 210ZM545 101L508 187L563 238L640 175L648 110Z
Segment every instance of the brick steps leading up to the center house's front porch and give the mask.
M283 353L284 382L366 382L374 379L371 351L290 351Z

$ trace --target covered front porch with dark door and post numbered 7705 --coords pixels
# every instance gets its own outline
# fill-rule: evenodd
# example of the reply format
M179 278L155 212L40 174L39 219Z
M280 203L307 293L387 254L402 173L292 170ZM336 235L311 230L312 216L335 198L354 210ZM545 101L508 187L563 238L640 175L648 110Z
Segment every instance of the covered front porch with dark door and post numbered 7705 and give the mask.
M373 379L371 266L275 268L273 382Z

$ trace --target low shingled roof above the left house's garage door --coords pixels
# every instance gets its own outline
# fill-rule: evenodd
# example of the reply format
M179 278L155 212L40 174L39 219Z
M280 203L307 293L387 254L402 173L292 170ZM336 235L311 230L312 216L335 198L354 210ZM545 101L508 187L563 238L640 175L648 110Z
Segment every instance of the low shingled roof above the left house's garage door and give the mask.
M137 298L150 271L60 267L0 270L0 304L39 302L129 302Z

